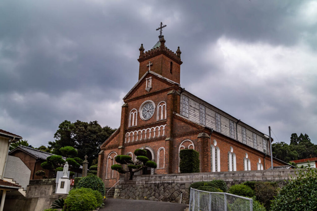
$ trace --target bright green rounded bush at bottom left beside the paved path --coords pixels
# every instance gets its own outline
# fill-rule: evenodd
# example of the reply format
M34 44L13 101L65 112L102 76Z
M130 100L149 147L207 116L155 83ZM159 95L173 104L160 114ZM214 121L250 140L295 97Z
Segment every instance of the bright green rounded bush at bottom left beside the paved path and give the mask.
M91 211L102 204L100 192L90 188L79 188L69 191L63 211Z

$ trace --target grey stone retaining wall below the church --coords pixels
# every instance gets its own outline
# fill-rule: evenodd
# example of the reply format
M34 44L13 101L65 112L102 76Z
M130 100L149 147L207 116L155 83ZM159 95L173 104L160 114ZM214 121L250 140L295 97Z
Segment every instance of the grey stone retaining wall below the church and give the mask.
M120 185L115 187L114 198L152 201L189 202L189 186L193 182L224 180L228 187L245 181L273 181L280 187L284 180L294 176L296 169L274 169L235 172L204 172L191 174L162 174L134 176L128 180L127 175L120 176Z

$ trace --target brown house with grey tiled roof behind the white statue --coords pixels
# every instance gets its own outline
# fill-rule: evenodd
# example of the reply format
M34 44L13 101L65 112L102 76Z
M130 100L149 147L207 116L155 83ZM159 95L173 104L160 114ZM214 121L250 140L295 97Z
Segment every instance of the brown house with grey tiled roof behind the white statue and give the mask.
M19 145L13 150L9 152L9 155L19 157L23 163L31 170L30 180L36 180L36 179L42 179L42 176L36 176L36 172L39 170L45 171L45 176L48 176L49 178L53 178L55 175L55 171L43 169L41 166L41 163L46 161L46 158L55 154L44 152L41 150L36 150L30 147ZM66 157L62 157L64 160ZM75 176L81 176L81 169L82 166L79 169L76 169ZM79 175L77 175L77 174Z

